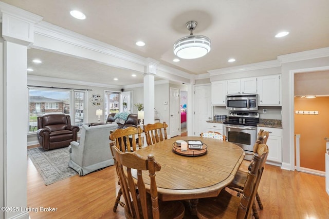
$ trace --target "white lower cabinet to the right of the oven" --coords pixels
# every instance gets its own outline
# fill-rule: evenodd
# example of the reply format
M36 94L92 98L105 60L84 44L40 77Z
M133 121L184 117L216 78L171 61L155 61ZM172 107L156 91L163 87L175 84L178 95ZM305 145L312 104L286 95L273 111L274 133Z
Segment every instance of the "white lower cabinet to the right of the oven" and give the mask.
M260 129L268 131L268 156L267 161L282 163L282 129L257 127L257 133Z

